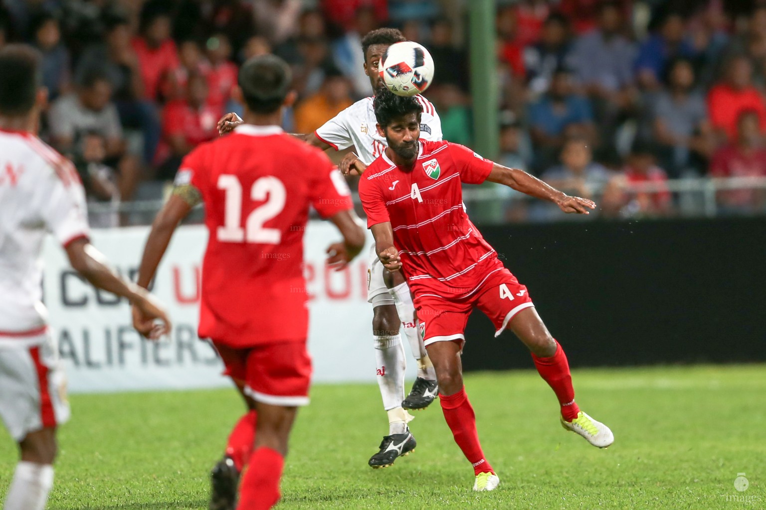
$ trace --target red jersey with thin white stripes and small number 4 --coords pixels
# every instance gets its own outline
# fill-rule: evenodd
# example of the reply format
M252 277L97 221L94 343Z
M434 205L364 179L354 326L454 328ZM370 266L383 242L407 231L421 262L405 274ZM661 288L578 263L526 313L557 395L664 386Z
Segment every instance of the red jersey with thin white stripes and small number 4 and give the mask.
M412 171L384 153L359 181L367 226L391 222L401 271L416 296L466 297L501 264L468 219L461 188L483 183L492 167L463 145L420 141Z

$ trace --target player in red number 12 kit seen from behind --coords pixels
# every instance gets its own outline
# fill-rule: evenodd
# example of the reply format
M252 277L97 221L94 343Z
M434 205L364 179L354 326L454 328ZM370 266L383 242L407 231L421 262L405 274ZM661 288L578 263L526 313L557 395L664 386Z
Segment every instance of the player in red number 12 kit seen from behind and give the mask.
M330 264L342 268L365 243L342 175L322 151L278 127L283 106L295 99L286 63L254 57L242 66L238 83L244 124L184 159L172 197L152 225L138 278L149 285L175 227L205 203L209 239L198 335L212 340L249 408L213 470L215 510L234 508L245 465L236 508L277 503L296 409L309 402L302 267L309 205L343 236L327 250Z

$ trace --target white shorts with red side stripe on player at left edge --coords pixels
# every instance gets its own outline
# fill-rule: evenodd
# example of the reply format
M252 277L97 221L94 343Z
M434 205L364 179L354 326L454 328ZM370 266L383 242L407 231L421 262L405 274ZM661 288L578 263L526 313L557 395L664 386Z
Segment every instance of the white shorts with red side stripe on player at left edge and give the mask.
M66 423L67 380L51 330L2 340L0 418L11 437L18 442L35 430Z

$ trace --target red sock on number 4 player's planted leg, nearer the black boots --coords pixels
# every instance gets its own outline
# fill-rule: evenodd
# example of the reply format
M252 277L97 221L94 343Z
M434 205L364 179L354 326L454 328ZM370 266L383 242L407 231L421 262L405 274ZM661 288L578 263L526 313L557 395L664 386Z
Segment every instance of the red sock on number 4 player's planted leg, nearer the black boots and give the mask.
M495 473L481 450L479 433L476 432L476 414L473 414L465 386L455 395L439 394L439 402L444 412L444 419L455 437L455 443L460 450L463 450L463 455L473 466L473 472L476 475L484 472Z

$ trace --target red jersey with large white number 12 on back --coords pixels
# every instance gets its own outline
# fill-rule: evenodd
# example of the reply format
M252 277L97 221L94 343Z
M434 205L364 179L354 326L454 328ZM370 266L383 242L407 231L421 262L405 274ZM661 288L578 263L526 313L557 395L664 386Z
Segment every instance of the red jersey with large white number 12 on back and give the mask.
M277 126L241 125L191 151L175 181L205 203L200 338L234 347L305 340L309 205L324 218L352 208L327 156Z

